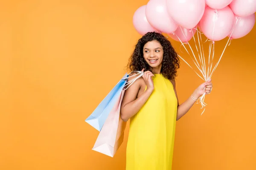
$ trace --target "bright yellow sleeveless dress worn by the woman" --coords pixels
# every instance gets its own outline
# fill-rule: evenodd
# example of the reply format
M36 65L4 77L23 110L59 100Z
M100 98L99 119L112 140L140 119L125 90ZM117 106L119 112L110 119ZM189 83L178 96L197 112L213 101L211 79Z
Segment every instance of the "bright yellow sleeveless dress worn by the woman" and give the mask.
M154 91L130 120L126 170L171 170L177 116L172 82L156 74Z

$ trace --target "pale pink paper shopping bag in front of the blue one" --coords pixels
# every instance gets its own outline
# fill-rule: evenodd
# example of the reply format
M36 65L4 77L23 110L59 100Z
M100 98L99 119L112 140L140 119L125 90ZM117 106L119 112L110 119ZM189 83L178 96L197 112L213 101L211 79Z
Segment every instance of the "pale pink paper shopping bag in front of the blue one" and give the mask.
M119 95L113 109L109 113L102 130L93 146L93 150L113 157L124 139L126 122L120 118L120 107L125 90Z

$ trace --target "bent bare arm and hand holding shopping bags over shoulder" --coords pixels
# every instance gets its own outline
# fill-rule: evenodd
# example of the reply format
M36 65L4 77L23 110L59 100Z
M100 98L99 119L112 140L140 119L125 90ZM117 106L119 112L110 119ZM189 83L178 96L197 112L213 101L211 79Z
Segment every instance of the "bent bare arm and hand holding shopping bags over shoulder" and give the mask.
M151 73L152 74L152 73ZM151 85L148 85L147 89L137 98L139 90L141 88L142 83L145 84L143 79L148 79L153 84L151 79L151 74L143 75L143 78L137 79L134 84L132 84L124 94L124 98L122 100L121 108L120 108L120 116L123 121L128 121L132 116L134 116L140 109L143 107L145 102L148 100L149 96L152 94L154 88ZM130 81L130 79L128 79ZM136 99L137 98L137 99Z

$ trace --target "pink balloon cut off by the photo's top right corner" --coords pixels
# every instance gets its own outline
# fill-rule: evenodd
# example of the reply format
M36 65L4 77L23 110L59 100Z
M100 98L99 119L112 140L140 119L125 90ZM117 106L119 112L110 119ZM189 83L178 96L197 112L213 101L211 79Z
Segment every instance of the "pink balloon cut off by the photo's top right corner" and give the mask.
M239 17L247 17L256 12L256 0L233 0L229 6Z

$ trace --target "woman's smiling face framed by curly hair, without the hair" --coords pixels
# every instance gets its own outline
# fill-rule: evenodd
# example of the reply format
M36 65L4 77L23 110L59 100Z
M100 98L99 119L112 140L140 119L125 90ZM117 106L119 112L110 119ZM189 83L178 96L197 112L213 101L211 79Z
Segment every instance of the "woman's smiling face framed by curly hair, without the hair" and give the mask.
M148 41L143 47L143 57L155 72L160 73L163 61L163 47L160 42Z

